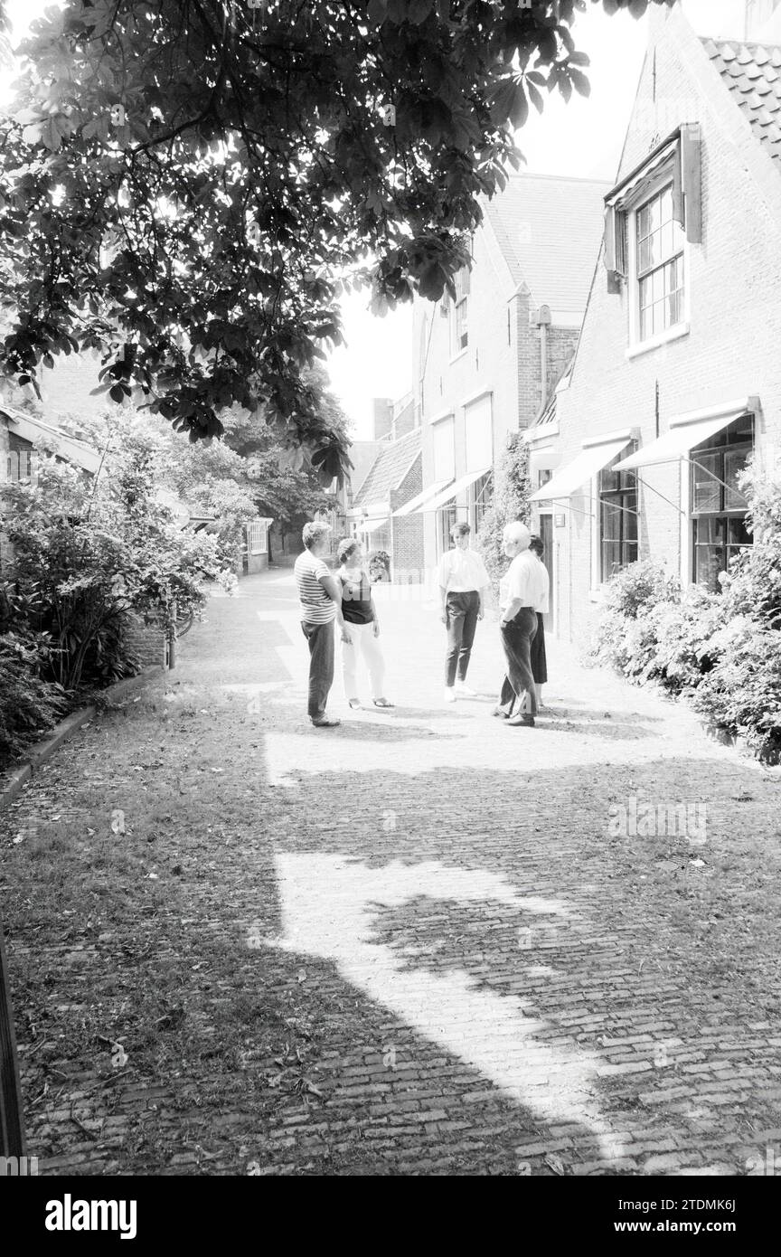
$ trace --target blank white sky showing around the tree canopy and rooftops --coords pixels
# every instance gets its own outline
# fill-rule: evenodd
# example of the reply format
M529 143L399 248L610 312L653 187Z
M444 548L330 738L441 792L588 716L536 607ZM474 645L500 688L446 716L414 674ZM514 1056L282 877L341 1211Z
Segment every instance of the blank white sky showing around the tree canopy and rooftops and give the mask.
M50 3L50 0L49 0ZM46 8L46 0L9 0L16 36ZM702 35L742 38L743 0L683 0L683 9ZM541 175L606 178L615 175L645 49L647 19L625 13L608 18L600 6L578 16L575 43L591 58L591 96L557 96L545 112L532 114L519 133L526 170ZM8 98L13 74L0 72L0 102ZM372 398L401 397L412 387L412 316L402 309L375 318L368 297L343 302L347 346L328 362L333 390L353 422L353 436L372 436Z

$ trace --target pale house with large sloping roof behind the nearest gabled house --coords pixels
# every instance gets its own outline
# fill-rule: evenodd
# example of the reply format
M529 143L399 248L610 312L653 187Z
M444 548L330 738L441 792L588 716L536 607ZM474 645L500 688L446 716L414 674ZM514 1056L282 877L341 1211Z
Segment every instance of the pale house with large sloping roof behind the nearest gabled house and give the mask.
M413 354L422 431L424 566L450 528L476 529L507 436L529 427L570 360L583 321L608 185L511 176L485 204L456 300L416 300Z

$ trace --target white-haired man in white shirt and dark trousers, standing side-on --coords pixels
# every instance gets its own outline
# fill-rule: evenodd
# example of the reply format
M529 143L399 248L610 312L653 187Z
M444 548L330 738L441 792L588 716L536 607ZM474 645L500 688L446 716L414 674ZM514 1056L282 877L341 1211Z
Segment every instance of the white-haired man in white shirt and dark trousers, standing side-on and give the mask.
M512 725L534 727L537 696L531 671L531 642L537 631L536 607L545 595L545 577L541 563L529 549L531 533L525 524L517 522L505 528L505 554L512 562L500 582L498 625L507 674L496 715L505 716ZM516 699L517 713L510 716L507 704Z

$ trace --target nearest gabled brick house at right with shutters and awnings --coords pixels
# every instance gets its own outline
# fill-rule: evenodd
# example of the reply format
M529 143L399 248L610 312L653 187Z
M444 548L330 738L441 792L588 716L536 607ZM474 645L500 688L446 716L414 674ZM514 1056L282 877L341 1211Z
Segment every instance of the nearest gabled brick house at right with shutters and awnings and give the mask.
M655 10L575 360L525 437L560 636L637 558L716 588L751 543L736 479L776 461L780 337L781 47Z

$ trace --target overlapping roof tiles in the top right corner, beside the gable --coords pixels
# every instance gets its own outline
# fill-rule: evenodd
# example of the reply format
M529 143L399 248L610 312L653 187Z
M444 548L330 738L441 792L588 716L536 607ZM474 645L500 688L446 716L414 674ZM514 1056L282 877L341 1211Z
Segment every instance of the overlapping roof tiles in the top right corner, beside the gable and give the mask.
M724 39L702 43L755 136L781 163L781 48Z

